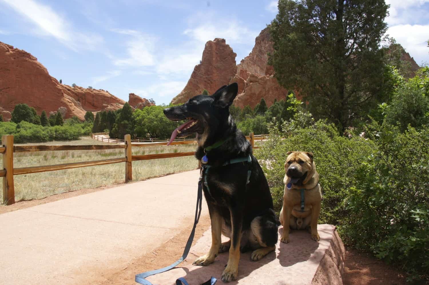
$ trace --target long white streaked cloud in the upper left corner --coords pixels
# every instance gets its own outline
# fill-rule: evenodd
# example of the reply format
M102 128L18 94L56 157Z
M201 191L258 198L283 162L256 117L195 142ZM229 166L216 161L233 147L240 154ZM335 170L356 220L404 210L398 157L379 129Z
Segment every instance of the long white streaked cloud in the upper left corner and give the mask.
M66 19L57 14L50 6L34 0L0 0L36 25L36 34L52 36L74 51L94 50L103 42L103 37L94 33L82 33L73 30Z

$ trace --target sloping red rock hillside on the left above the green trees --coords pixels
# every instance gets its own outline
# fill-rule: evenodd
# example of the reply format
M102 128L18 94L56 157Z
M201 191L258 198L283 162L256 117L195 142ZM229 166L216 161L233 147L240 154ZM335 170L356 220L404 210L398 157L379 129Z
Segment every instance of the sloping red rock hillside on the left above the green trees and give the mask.
M0 63L0 113L5 120L10 119L10 112L19 103L34 107L39 115L43 110L48 114L60 111L64 118L76 116L81 120L86 111L116 110L125 104L102 89L60 84L36 57L2 42ZM131 106L136 108L138 103L146 101L143 105L151 105L148 100L133 95L136 105L130 103Z

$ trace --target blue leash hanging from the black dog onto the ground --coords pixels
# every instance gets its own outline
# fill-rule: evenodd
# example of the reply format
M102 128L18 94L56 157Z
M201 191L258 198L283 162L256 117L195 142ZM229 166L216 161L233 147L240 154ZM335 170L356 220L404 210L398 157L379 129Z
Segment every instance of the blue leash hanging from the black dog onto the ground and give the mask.
M190 250L190 246L192 245L193 237L195 235L196 224L198 224L199 216L201 215L201 203L202 203L202 182L201 182L202 180L201 179L202 179L202 177L200 174L199 181L198 181L198 195L197 195L197 199L196 199L195 220L193 222L192 231L189 235L185 249L183 251L183 255L181 256L181 258L178 259L178 261L176 261L175 263L173 263L169 266L166 266L166 267L163 267L163 268L160 268L157 270L151 270L151 271L146 271L146 272L143 272L140 274L136 274L136 282L137 283L142 284L142 285L153 285L151 282L149 282L145 278L148 276L151 276L151 275L155 275L158 273L168 271L168 270L174 268L175 266L177 266L178 264L180 264L187 257L189 250ZM216 282L217 282L216 278L211 277L210 280L208 280L208 281L206 281L200 285L215 285ZM187 283L187 281L183 277L181 277L181 278L176 280L176 285L189 285L189 284Z

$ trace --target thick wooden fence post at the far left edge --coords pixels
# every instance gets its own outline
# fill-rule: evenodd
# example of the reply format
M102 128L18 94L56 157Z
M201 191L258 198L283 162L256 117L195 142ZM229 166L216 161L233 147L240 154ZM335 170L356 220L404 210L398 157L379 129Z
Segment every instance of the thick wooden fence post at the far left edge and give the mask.
M3 177L3 204L15 204L15 188L13 186L13 135L3 135L1 138L3 147L3 168L6 176Z

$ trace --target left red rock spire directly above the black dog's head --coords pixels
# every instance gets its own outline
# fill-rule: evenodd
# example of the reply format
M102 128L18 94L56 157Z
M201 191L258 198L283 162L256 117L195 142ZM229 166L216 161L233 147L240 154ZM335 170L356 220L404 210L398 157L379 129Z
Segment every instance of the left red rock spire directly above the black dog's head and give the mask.
M225 39L206 42L201 63L195 66L186 86L172 99L172 104L184 103L204 89L213 94L219 87L228 84L236 75L236 56Z

